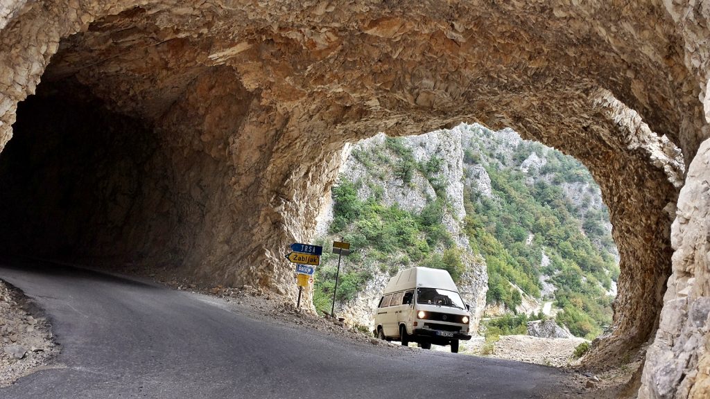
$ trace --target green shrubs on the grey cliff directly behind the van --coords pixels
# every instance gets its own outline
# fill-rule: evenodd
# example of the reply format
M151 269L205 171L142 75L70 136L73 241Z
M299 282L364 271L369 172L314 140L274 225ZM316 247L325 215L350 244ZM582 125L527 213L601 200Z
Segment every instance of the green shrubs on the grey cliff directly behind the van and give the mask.
M373 172L382 170L381 166L391 168L405 185L412 182L415 172L421 173L432 183L437 197L429 200L422 212L415 214L401 209L398 204L382 204L383 188L376 182L339 180L332 188L334 217L329 233L342 236L357 251L346 258L340 271L336 300L353 300L372 278L373 270L394 275L400 267L411 263L448 270L458 281L465 267L461 262L461 251L454 246L442 224L447 204L442 195L444 185L436 177L442 168L442 159L432 157L417 163L412 150L400 138L387 138L383 148L354 151L353 156ZM373 195L362 200L357 193L364 184ZM439 253L435 248L445 249ZM316 272L313 296L314 305L320 312L330 310L337 271L329 262L332 257L325 253L325 249L322 266ZM367 255L363 256L363 253Z

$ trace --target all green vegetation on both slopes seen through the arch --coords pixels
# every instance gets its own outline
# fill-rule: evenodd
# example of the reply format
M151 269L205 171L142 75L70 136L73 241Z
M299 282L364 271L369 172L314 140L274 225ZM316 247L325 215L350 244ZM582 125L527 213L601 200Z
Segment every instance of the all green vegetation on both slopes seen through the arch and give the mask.
M611 324L613 297L606 291L619 274L608 211L598 206L599 187L584 166L559 151L528 141L511 146L518 141L476 126L469 129L474 134L463 143L466 177L485 170L491 180L491 195L464 186L465 233L488 268L486 302L502 303L515 312L524 295L554 301L562 310L559 324L577 336L595 337ZM542 161L523 173L520 164L532 153ZM394 275L408 266L441 268L460 280L466 272L463 251L442 224L449 207L444 194L449 182L441 173L444 160L432 156L417 161L412 145L403 138L386 138L382 145L356 149L352 156L367 174L357 181L341 179L332 189L334 219L329 234L357 248L340 272L337 300L352 300L373 273ZM387 206L384 180L393 176L412 189L423 177L436 195L418 213L398 204ZM569 200L565 190L577 199ZM371 195L361 198L359 191ZM317 269L314 302L319 310L330 310L336 273L332 259L332 254L324 253ZM556 288L545 298L543 275ZM508 315L489 322L486 342L492 345L501 334L524 333L527 321L525 315Z

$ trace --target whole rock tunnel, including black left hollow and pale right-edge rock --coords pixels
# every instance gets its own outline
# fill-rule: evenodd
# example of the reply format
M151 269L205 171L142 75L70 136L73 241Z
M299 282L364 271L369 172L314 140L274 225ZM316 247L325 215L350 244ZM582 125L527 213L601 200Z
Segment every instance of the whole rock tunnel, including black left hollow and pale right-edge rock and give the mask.
M588 361L655 339L641 395L701 393L709 17L682 0L10 1L0 249L292 295L283 254L345 143L510 126L581 160L610 209L618 299Z

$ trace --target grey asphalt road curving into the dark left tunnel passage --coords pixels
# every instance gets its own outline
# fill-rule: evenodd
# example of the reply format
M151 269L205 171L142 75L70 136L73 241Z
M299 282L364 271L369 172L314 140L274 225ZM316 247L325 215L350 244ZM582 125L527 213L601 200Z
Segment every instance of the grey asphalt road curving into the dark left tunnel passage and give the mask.
M203 295L91 270L0 261L47 313L66 368L0 398L544 398L555 368L339 339Z

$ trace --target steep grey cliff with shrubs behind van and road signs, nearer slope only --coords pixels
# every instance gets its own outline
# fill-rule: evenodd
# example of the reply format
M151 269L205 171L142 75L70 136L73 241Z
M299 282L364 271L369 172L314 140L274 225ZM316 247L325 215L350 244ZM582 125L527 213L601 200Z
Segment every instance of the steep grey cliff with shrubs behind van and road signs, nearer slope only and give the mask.
M340 274L337 314L372 327L371 314L391 275L401 268L447 268L478 324L486 301L486 266L464 229L461 131L405 139L379 134L355 146L341 169L316 240L356 248ZM329 310L337 256L324 256L314 303ZM326 309L324 309L326 308Z

